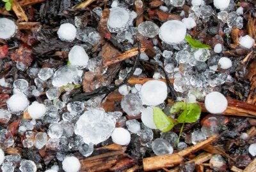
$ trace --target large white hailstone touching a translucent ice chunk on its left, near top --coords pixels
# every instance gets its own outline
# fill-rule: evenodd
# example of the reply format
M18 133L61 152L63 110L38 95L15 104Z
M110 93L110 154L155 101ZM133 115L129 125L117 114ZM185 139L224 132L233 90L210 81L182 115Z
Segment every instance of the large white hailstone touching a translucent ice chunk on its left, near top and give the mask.
M168 20L159 29L159 38L165 43L180 43L186 36L186 25L178 20Z

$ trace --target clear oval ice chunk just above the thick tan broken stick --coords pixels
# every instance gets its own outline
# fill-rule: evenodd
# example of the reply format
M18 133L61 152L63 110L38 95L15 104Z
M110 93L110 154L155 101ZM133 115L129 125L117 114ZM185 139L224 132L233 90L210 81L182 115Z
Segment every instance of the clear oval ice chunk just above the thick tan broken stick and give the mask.
M173 152L172 145L163 138L157 138L153 141L152 150L156 155L167 155Z

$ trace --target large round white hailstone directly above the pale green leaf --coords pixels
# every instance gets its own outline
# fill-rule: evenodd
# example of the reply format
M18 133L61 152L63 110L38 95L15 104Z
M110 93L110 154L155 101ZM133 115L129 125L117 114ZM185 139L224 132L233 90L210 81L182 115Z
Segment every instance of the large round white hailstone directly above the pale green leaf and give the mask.
M163 103L167 97L166 83L159 80L150 80L144 83L140 90L140 97L142 103L147 106Z

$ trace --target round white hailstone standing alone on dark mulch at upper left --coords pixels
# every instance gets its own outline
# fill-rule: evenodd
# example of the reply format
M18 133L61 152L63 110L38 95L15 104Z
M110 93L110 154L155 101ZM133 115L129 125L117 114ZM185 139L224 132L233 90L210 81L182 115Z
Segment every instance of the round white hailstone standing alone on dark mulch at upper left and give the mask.
M76 27L72 24L61 24L57 32L62 41L71 42L76 38Z

